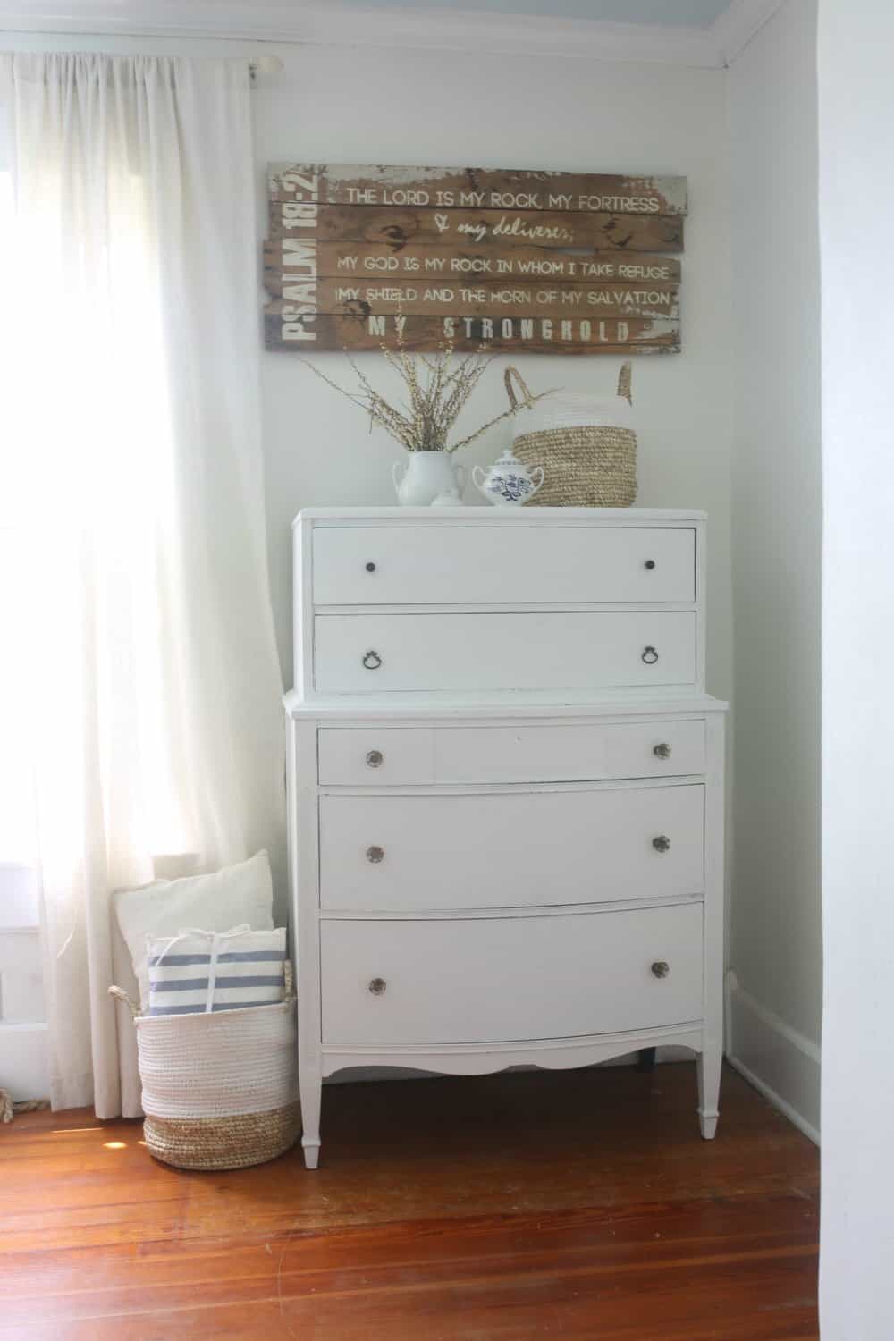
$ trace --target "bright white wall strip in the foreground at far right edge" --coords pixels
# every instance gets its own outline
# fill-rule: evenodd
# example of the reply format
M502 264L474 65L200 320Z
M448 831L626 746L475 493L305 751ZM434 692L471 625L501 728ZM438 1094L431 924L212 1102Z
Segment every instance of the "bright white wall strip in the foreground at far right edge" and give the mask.
M823 1341L890 1341L894 337L886 314L894 279L883 257L894 219L894 7L820 0L819 16L826 479L820 1318Z

